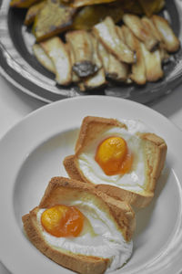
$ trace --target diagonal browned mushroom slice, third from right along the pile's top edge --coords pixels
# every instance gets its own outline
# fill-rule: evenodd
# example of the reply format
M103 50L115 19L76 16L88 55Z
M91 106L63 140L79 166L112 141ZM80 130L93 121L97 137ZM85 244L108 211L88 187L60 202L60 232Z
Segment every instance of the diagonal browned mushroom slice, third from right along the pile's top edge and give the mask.
M157 38L154 37L150 31L142 24L141 19L138 16L131 14L124 14L123 21L128 26L134 35L145 43L149 51L156 49L158 45Z

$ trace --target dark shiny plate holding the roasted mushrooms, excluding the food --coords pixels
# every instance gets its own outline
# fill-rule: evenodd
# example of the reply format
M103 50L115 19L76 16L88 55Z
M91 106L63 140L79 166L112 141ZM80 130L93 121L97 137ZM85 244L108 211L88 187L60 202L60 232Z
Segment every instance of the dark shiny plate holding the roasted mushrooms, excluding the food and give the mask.
M166 0L162 16L170 20L182 41L182 2ZM9 1L0 0L0 73L19 90L46 102L80 95L106 95L147 103L174 90L182 82L182 49L164 66L165 77L144 87L115 84L105 89L80 92L76 87L56 85L54 75L43 68L32 53L35 37L24 26L25 10L9 8Z

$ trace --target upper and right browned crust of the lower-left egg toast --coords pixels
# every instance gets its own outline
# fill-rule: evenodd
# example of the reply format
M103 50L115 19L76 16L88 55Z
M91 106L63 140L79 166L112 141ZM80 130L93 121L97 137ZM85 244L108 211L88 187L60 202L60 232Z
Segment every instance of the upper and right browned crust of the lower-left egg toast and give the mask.
M42 197L39 207L46 208L63 203L63 196L65 196L66 199L68 190L70 194L72 192L74 195L76 195L76 192L78 192L80 196L95 195L96 198L109 209L109 213L115 218L126 241L131 239L136 226L135 213L132 207L127 205L126 202L116 200L104 194L99 189L96 189L93 184L83 184L83 182L65 177L54 177L46 187L45 195ZM102 206L102 204L100 205Z

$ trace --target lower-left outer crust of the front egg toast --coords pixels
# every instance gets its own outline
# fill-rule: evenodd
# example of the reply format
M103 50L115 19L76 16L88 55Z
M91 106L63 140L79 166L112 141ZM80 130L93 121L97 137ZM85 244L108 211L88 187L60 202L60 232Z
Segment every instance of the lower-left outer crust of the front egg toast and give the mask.
M49 246L41 235L41 231L36 223L36 211L33 209L29 214L22 217L25 233L29 240L39 249L46 257L51 258L57 264L66 269L72 269L81 274L101 274L106 271L108 259L96 258L91 256L76 255L64 250L57 250Z

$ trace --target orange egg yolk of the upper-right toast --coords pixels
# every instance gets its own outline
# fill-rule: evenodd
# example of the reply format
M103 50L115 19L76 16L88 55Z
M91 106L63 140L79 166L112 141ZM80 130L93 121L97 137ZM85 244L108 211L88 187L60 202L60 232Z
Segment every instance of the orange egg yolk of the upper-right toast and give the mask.
M95 160L106 175L126 174L131 169L133 155L123 138L109 137L98 145Z

